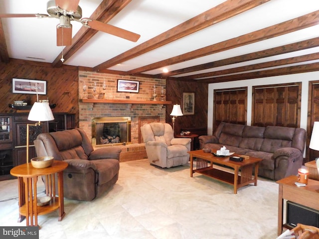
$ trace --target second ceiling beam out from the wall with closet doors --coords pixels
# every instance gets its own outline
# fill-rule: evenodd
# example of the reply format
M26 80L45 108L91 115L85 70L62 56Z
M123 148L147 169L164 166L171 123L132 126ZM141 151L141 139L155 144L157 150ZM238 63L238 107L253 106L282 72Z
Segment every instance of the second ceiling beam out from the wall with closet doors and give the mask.
M191 79L199 79L204 77L211 77L211 76L221 76L221 75L228 75L228 74L236 74L240 72L246 72L246 71L254 71L258 69L263 68L269 68L269 67L279 67L283 65L289 65L289 64L295 64L300 62L306 62L306 61L313 61L319 59L319 53L313 53L303 56L296 56L296 57L290 57L286 59L276 60L276 61L268 61L258 64L252 64L247 66L241 66L241 67L235 67L230 68L226 70L220 70L220 71L213 71L213 72L207 72L202 74L196 74L186 77L178 77L181 80L191 80Z

